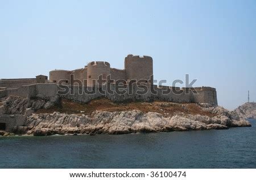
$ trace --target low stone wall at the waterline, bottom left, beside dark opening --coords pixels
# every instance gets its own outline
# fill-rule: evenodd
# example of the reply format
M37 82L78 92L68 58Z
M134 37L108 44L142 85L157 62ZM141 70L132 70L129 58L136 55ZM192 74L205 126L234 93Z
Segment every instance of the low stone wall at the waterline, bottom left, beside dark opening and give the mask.
M25 121L24 115L0 115L0 123L6 123L6 131L11 131L15 126L23 126Z

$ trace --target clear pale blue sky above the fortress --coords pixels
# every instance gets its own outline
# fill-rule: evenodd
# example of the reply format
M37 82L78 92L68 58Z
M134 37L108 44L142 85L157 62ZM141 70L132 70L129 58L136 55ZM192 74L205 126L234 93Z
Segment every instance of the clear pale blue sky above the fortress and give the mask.
M3 1L0 78L150 55L155 79L198 79L234 109L256 101L256 1Z

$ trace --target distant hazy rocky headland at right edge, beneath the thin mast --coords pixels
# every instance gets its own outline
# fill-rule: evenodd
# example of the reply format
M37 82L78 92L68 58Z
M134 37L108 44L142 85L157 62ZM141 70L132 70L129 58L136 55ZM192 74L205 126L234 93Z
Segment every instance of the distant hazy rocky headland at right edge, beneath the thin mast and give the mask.
M256 102L246 102L234 110L240 118L256 119Z

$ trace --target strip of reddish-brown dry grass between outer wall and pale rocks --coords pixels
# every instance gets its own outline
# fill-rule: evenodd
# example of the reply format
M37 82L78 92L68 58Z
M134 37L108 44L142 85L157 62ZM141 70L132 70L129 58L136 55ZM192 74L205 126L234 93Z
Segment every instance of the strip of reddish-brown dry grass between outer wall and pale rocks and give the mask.
M71 100L63 99L59 106L51 109L39 109L36 113L68 113L68 114L90 114L95 110L107 112L119 112L127 110L140 110L141 112L156 112L164 116L174 115L176 113L201 114L214 116L205 112L197 104L177 104L174 102L112 102L106 98L92 100L88 103L78 103Z

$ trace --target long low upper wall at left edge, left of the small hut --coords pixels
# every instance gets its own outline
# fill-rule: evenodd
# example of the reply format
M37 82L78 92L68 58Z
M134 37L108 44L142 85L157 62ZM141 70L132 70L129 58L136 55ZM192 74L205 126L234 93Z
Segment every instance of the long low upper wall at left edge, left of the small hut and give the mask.
M22 85L35 84L36 79L0 79L0 87L19 88Z

